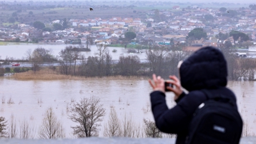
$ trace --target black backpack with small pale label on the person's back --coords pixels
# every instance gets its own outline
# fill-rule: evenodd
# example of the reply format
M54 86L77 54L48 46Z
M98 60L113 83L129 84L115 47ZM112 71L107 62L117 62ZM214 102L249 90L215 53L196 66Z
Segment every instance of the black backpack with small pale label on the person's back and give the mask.
M236 104L220 95L212 95L202 90L207 100L196 109L187 144L238 144L243 129L243 121Z

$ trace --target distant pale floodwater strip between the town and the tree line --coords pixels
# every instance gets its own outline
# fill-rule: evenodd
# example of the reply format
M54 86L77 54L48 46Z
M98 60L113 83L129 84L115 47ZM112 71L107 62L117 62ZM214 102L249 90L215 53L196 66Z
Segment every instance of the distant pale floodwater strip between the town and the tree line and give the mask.
M43 44L20 44L20 45L0 45L0 56L1 59L5 59L6 56L13 57L15 59L23 59L26 58L26 51L31 49L32 51L38 47L43 47L45 49L51 50L53 56L57 56L61 49L65 49L68 45L60 44L60 45L43 45ZM76 45L77 46L77 45ZM86 58L88 56L95 56L95 52L97 52L97 46L92 45L90 47L90 52L82 52ZM140 59L146 59L145 52L142 53L128 53L128 48L124 47L108 47L109 54L111 54L113 60L118 60L120 56L129 56L136 55L139 56ZM113 49L116 49L116 52L112 52Z

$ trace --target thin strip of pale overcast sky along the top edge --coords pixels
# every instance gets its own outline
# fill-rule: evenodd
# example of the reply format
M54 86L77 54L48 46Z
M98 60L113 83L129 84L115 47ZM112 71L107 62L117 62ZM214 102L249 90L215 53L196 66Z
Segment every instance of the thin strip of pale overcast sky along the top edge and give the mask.
M7 0L7 1L14 1L14 0ZM16 0L16 1L28 1L28 0ZM32 0L32 1L64 1L64 0ZM65 1L70 1L70 0L65 0ZM81 0L72 0L72 1L81 1ZM90 0L88 0L90 1ZM124 0L93 0L93 1L124 1ZM129 2L130 0L126 0L127 2ZM140 1L140 0L132 0L132 1ZM144 1L144 0L142 0ZM154 0L145 0L145 1L154 1ZM166 1L166 0L156 0L156 1ZM173 3L212 3L212 2L216 2L216 3L251 3L251 4L256 4L255 0L210 0L210 1L205 1L205 0L179 0L179 1L173 1L171 0Z

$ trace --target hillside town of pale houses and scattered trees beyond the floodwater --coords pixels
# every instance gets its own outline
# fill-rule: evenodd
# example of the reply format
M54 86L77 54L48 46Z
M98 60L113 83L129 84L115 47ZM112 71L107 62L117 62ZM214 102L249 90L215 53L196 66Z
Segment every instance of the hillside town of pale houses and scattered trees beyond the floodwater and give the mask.
M192 51L205 45L212 45L214 47L249 48L250 51L256 51L255 4L236 9L221 6L220 8L204 8L196 4L184 8L177 4L166 10L147 11L135 10L135 4L125 6L125 8L131 9L132 13L140 13L138 17L135 15L115 16L115 13L111 13L111 18L100 17L100 14L97 15L99 17L92 17L93 12L102 7L94 6L91 17L87 19L77 19L76 16L69 19L51 18L44 21L36 19L30 24L24 22L24 18L22 19L19 13L28 13L29 16L35 17L33 10L12 11L12 16L8 19L9 25L4 25L4 22L1 24L0 41L39 42L40 44L106 44L118 45L118 47L144 45L145 48L148 45L159 45ZM53 10L58 10L58 6L52 7ZM63 5L61 8L70 7L72 6ZM73 9L74 7L78 8L73 5ZM6 10L8 6L2 2L1 9ZM116 11L116 13L122 12L122 10ZM135 35L125 37L127 32Z

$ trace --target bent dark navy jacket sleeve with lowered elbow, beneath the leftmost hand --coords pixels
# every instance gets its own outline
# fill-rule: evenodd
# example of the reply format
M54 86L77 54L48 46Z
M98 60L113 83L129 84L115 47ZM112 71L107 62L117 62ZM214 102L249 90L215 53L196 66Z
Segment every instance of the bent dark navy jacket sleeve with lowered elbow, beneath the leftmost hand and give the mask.
M168 109L163 92L150 93L152 113L157 128L166 133L177 134L186 131L189 127L195 109L206 100L202 92L184 94L176 106Z

